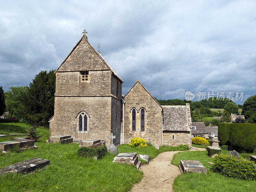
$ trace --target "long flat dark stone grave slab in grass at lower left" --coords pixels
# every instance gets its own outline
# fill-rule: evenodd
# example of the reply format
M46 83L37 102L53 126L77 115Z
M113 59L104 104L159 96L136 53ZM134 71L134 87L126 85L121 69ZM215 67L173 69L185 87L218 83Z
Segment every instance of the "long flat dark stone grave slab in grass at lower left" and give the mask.
M5 173L29 173L31 171L35 171L38 168L43 168L44 166L50 164L50 160L47 159L40 159L40 158L32 158L26 161L22 161L19 163L12 164L8 167L4 167L0 169L0 174Z

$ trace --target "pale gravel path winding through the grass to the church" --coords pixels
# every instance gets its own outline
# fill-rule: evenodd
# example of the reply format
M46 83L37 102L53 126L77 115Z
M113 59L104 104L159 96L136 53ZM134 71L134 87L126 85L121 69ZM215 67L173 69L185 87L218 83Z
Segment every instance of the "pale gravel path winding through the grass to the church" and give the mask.
M192 147L190 151L204 151L205 148ZM179 167L172 165L173 156L180 151L160 153L148 165L142 165L140 170L144 177L139 183L134 184L131 192L172 192L174 179L180 175Z

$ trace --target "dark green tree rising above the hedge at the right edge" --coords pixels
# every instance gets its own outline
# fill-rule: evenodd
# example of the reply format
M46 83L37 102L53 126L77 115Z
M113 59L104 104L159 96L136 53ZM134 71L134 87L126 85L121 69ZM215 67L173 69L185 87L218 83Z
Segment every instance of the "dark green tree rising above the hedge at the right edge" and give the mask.
M242 115L248 120L250 123L256 123L256 95L253 95L247 98L244 101L244 105L242 108Z

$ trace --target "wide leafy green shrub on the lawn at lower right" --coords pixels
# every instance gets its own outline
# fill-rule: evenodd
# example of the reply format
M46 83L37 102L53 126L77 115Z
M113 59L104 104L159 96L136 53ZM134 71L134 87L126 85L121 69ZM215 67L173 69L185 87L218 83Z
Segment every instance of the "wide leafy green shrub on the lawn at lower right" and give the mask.
M256 180L256 167L253 161L236 159L235 156L218 155L213 161L212 169L227 177L241 180Z

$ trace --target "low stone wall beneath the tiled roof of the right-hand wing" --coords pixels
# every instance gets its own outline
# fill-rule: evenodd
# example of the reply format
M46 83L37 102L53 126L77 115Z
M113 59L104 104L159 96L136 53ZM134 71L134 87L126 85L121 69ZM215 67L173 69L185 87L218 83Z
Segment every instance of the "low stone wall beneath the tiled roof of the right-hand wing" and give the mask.
M163 145L178 146L187 144L191 147L191 132L189 131L163 131Z

